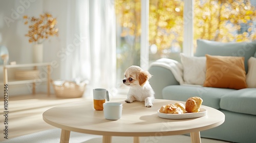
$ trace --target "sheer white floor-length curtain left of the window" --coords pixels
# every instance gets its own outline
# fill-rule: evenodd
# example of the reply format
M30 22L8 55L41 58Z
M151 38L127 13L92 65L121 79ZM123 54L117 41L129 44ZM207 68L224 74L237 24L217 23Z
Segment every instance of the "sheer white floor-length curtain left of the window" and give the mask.
M114 1L68 1L66 56L61 78L88 80L93 88L116 91L116 33ZM60 33L61 34L61 33Z

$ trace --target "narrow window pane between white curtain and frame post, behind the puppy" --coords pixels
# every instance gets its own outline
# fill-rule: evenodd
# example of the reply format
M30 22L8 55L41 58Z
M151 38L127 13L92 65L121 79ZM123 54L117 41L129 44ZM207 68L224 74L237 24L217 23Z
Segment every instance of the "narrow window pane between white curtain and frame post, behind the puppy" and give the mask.
M125 88L123 74L131 65L140 66L140 0L116 0L117 87Z

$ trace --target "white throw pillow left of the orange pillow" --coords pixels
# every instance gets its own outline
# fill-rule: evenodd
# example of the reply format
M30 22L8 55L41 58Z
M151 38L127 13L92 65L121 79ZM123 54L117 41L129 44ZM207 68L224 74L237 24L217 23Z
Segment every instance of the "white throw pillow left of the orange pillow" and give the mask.
M206 74L206 57L190 57L180 54L185 84L203 85Z

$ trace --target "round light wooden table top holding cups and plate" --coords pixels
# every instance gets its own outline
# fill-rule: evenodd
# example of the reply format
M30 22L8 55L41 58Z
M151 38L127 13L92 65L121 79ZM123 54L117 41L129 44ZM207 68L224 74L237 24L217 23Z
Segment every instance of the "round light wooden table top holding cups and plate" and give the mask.
M109 136L156 136L198 132L217 127L224 123L225 115L214 108L201 106L207 115L198 118L169 120L157 115L158 109L177 101L154 101L151 108L144 102L125 103L125 99L110 99L109 102L123 104L122 116L117 121L106 120L103 111L93 108L93 100L59 105L45 111L42 116L46 123L68 131ZM184 102L181 102L185 105Z

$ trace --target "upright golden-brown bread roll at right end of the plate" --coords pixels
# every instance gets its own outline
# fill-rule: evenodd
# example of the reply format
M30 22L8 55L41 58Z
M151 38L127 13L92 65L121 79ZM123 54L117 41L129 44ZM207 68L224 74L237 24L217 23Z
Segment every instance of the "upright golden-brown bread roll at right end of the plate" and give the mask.
M191 97L186 101L185 109L187 112L199 112L203 100L200 97Z

